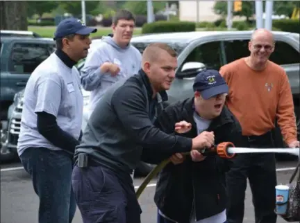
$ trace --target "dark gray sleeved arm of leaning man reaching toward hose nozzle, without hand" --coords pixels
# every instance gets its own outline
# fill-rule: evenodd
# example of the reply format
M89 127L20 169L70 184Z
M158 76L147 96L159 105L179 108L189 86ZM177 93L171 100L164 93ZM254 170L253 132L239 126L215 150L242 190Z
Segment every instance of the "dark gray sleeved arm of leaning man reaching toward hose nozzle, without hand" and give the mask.
M113 95L112 107L128 134L142 147L160 147L165 152L192 150L192 139L166 134L151 123L146 111L147 98L139 86L119 87Z

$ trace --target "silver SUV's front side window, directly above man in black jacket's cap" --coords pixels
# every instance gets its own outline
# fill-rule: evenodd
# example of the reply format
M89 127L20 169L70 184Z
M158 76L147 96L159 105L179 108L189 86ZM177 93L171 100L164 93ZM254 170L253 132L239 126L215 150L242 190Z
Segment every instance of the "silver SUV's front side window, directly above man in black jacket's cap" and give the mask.
M201 62L207 69L217 69L222 66L222 49L220 42L208 42L194 48L194 50L185 58L186 62Z

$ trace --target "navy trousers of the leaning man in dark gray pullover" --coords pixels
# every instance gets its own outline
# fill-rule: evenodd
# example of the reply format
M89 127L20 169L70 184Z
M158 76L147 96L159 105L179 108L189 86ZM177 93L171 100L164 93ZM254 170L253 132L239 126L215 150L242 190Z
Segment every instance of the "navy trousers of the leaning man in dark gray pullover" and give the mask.
M72 184L83 223L140 223L133 181L101 166L74 167Z

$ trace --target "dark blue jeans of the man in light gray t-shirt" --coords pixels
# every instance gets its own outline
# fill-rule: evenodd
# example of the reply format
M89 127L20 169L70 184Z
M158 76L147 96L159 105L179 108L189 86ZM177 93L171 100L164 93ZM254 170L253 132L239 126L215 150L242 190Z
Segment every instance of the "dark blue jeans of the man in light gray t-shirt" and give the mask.
M20 156L40 198L39 223L71 223L76 211L72 157L63 151L28 148Z

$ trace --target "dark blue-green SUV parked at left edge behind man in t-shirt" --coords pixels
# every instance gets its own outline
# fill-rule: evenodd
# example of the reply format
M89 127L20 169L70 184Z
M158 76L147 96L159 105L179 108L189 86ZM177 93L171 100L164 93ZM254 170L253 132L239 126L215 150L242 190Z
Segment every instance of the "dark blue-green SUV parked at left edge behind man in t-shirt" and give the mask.
M7 36L8 35L8 36ZM32 35L32 36L31 36ZM7 124L10 120L9 107L18 92L24 89L31 73L43 60L53 52L53 39L35 37L33 33L1 30L1 148L0 160L12 159L14 154L8 150ZM17 95L16 95L17 93ZM21 102L20 102L21 103ZM11 111L11 109L10 109ZM12 127L19 127L19 119L15 118ZM10 128L10 131L11 128ZM12 133L14 133L12 131ZM13 136L10 136L13 137ZM10 139L15 141L15 139Z

